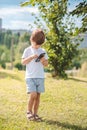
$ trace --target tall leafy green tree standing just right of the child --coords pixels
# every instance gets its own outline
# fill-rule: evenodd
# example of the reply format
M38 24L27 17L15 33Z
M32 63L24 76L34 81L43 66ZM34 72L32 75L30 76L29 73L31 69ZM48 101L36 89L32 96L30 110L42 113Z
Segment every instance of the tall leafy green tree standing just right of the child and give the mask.
M49 61L54 69L55 75L65 77L65 70L72 63L72 59L77 55L77 44L73 44L71 36L73 34L73 23L69 21L67 14L68 0L40 0L24 2L22 6L38 4L40 16L46 23L46 49L49 54ZM66 22L64 22L65 16ZM38 20L39 21L39 20ZM70 27L69 27L69 26Z

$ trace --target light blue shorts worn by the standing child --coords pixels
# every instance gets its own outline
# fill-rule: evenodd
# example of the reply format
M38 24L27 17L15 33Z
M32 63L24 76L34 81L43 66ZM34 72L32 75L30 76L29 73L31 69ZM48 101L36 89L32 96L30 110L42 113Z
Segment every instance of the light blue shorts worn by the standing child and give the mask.
M27 93L45 91L44 78L27 78L26 79Z

